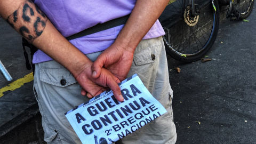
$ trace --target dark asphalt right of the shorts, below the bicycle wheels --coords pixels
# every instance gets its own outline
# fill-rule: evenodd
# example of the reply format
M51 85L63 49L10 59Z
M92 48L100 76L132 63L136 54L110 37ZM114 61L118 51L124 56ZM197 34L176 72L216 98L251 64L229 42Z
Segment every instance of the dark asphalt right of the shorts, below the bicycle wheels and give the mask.
M221 23L211 61L169 59L177 144L256 143L255 9L247 20Z

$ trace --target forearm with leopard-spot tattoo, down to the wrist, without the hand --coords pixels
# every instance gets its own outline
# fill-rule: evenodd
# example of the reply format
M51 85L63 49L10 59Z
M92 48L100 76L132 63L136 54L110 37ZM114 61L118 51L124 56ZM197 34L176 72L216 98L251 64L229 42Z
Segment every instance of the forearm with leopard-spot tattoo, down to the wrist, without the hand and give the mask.
M1 1L0 15L38 49L65 66L73 75L91 62L69 43L31 1Z

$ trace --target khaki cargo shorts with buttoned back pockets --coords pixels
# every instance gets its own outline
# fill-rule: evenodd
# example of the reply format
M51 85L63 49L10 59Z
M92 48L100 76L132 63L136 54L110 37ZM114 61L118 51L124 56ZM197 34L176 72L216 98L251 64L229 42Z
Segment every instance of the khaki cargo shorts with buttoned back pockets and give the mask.
M94 61L100 53L86 56ZM81 95L81 86L59 63L52 60L38 63L35 67L34 91L42 115L44 140L47 143L81 143L64 114L89 99ZM177 134L171 106L173 92L168 71L162 37L142 40L134 52L133 64L127 77L138 74L167 113L116 144L175 143Z

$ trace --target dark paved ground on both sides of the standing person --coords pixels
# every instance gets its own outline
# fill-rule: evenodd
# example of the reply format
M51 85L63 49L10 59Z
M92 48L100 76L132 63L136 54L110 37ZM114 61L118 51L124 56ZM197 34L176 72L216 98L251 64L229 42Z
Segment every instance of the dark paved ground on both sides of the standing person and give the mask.
M177 143L256 143L255 10L247 20L220 24L207 54L211 61L181 63L168 57ZM2 18L0 34L0 60L12 82L19 82L31 73L25 66L21 37ZM12 82L0 76L0 94ZM2 143L42 143L33 82L22 83L0 96Z

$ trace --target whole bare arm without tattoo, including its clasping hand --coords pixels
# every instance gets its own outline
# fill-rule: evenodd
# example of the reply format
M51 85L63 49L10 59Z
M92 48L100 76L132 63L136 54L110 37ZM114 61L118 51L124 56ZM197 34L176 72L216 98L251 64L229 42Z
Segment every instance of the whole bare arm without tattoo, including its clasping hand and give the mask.
M169 0L138 0L113 45L108 47L93 63L93 77L98 77L101 68L107 68L122 81L127 76L135 48L148 33L163 12Z

